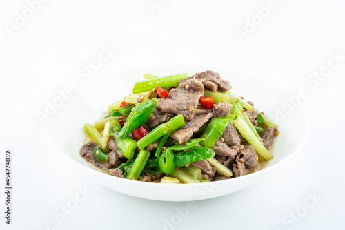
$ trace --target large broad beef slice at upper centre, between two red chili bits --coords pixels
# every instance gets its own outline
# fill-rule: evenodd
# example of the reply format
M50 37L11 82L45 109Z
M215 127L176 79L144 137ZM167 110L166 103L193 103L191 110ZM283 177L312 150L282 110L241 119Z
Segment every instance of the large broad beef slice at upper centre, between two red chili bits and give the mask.
M204 95L204 85L196 79L189 79L170 90L169 96L157 101L157 107L168 114L182 114L186 121L191 121L199 99Z

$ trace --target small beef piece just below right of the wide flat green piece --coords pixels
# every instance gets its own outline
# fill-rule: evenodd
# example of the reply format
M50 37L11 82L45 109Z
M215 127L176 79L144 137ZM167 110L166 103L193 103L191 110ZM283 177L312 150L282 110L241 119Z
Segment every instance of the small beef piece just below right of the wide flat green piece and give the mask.
M215 147L213 147L213 150L215 151L215 154L216 154L215 158L221 164L230 168L231 165L235 162L235 158L241 148L243 148L243 146L239 147L239 146L233 145L231 147L228 147L228 145L218 140L217 143L215 144Z

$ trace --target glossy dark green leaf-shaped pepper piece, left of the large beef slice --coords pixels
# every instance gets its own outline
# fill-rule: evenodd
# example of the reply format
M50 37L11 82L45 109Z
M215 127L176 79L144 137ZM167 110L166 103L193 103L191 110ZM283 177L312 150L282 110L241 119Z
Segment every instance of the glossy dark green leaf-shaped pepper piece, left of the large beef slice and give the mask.
M123 138L128 135L130 132L139 128L141 125L148 121L150 118L153 109L155 109L157 104L157 99L152 99L150 101L139 103L130 113L124 127L119 132L119 137Z

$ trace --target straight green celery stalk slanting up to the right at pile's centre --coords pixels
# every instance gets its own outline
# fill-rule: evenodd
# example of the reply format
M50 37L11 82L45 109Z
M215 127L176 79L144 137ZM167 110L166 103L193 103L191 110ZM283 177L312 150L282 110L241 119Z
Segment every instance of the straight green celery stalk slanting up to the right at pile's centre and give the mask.
M183 125L184 125L184 116L182 116L182 114L179 114L175 116L174 118L171 118L166 123L162 123L161 125L157 126L149 134L144 136L144 138L141 138L141 140L139 140L137 143L138 147L140 149L144 149L145 147L148 147L148 145L153 143L155 140L158 140L159 138L161 138L161 136L164 136L170 131L174 131L178 129L179 127Z

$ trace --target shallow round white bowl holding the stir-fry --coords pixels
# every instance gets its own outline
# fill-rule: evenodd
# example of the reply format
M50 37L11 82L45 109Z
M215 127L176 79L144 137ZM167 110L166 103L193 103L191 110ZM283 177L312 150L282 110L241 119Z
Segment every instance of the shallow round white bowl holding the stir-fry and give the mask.
M265 175L272 174L274 169L286 163L302 147L309 132L308 116L304 109L301 107L295 109L279 124L279 131L282 134L277 137L271 151L273 160L270 160L264 169L230 180L188 185L139 182L97 171L79 156L79 149L85 138L83 125L99 120L106 112L107 106L127 95L130 87L135 81L142 80L145 73L164 76L188 72L191 76L195 72L204 70L219 72L223 79L230 80L233 92L244 96L248 101L253 101L255 108L265 112L270 118L275 117L274 107L281 107L284 101L282 98L288 95L281 88L263 79L218 67L192 65L139 67L97 76L79 85L79 91L73 93L72 97L59 107L57 113L46 121L46 133L57 152L66 156L66 164L74 164L88 178L123 194L150 200L188 201L216 198L239 191L253 185Z

